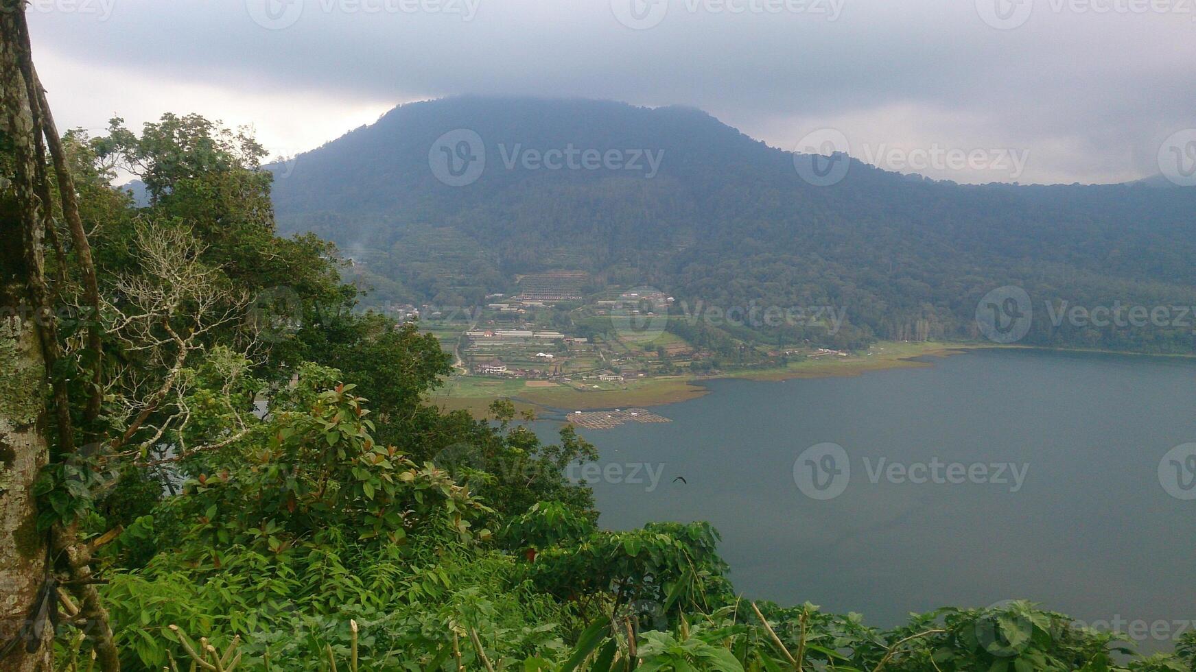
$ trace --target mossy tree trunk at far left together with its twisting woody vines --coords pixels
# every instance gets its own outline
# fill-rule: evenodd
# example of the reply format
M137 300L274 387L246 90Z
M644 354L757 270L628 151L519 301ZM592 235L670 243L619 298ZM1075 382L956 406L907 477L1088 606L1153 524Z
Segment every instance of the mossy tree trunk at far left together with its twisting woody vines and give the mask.
M50 615L56 611L57 593L49 581L54 568L45 564L49 537L37 531L33 484L38 470L49 460L47 373L60 361L61 347L44 273L43 237L48 230L53 232L53 203L43 140L54 159L62 210L84 276L85 300L93 310L99 301L74 183L30 50L25 0L0 0L0 147L11 153L11 161L0 165L11 165L14 175L11 183L0 179L0 670L49 672L54 637ZM89 346L98 356L98 324L89 330ZM93 381L98 381L98 371L97 366ZM55 447L71 453L74 427L66 383L55 378L50 387L57 429ZM89 395L89 422L98 413L96 391ZM79 544L74 524L55 526L54 546L81 600L78 616L87 622L99 668L120 672L108 612L90 582L91 552Z

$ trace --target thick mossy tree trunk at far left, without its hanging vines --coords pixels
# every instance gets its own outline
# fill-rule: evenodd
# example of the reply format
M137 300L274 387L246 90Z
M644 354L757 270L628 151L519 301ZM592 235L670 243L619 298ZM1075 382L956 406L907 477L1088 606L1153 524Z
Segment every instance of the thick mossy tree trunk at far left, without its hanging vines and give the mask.
M12 148L16 179L0 191L0 668L49 671L53 628L29 628L47 578L45 537L37 532L33 481L47 463L45 360L31 301L41 276L41 201L33 184L33 122L10 1L0 11L0 132ZM7 161L6 161L7 163ZM42 625L44 623L38 623ZM48 625L48 624L47 624ZM11 646L10 646L11 644ZM32 650L30 650L32 649Z

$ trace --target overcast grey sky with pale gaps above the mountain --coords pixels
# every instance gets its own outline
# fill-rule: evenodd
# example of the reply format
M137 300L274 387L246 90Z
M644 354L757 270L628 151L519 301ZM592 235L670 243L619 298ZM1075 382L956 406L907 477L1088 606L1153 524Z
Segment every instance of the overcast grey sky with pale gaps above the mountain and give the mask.
M786 149L835 129L959 182L1135 179L1196 128L1196 0L32 0L30 22L60 126L196 111L275 154L459 93L694 105Z

